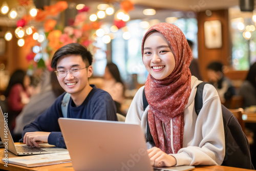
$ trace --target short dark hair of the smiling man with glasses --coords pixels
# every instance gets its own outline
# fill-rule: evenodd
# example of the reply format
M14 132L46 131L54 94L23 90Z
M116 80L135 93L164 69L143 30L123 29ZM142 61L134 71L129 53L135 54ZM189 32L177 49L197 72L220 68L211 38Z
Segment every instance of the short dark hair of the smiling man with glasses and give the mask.
M80 45L80 44L68 44L66 46L63 46L59 48L52 57L52 63L51 67L53 69L56 69L57 67L57 61L62 56L66 55L81 55L83 61L88 61L89 65L92 65L93 56L90 51L87 50L86 47Z

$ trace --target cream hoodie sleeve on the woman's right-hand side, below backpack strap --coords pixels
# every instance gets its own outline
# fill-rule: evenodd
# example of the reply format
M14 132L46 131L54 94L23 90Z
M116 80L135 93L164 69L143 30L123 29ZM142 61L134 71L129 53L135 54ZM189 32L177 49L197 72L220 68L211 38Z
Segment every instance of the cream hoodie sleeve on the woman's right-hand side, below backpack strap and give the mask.
M189 119L193 121L193 118L197 117L194 103L191 107L187 110L192 110L193 115ZM191 130L194 130L194 135L191 136L193 139L190 139L190 142L186 141L187 143L183 144L185 147L181 148L177 154L170 155L176 158L177 166L221 165L225 155L222 109L218 93L210 84L205 85L203 106L198 117L195 119L195 127L191 127Z

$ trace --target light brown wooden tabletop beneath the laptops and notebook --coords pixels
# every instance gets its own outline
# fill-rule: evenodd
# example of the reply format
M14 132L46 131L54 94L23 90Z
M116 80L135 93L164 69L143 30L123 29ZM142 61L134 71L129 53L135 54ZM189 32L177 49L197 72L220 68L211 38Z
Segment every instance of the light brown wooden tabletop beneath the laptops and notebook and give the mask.
M18 144L18 143L15 143ZM20 143L19 143L20 144ZM0 148L0 156L2 158L4 157L4 148ZM8 158L11 157L17 157L11 152L8 152ZM72 163L63 163L63 164L53 164L53 165L48 165L48 166L40 166L40 167L24 167L24 166L19 166L19 165L14 165L14 164L8 164L8 167L5 166L5 163L0 161L0 170L16 170L16 171L23 171L23 170L40 170L40 171L71 171L73 169ZM226 167L226 166L196 166L194 171L246 171L249 169L242 169L242 168L236 168L236 167ZM99 170L99 171L104 171L104 170ZM138 170L139 171L139 170ZM141 170L143 171L143 170Z

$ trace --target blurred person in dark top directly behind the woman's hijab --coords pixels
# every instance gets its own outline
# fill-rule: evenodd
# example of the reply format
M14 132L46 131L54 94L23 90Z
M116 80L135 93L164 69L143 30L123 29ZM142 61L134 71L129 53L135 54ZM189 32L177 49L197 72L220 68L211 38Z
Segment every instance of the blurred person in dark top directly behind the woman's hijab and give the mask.
M194 75L199 80L203 80L200 69L199 69L198 60L196 58L194 58L194 56L193 56L194 42L191 41L191 40L188 40L188 39L187 39L187 42L188 42L188 46L189 46L189 48L191 50L191 53L192 53L192 59L191 59L190 65L189 65L189 70L191 72L191 75Z

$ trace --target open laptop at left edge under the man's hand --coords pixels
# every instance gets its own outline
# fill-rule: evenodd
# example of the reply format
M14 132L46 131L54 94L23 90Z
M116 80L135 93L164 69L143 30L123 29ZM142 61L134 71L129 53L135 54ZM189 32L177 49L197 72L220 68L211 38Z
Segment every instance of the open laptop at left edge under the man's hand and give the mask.
M12 152L17 156L22 155L35 155L35 154L47 154L67 152L65 148L57 148L50 144L40 144L38 147L28 146L26 144L14 145L12 136L8 128L8 113L3 113L0 106L0 138L4 144L4 148Z

